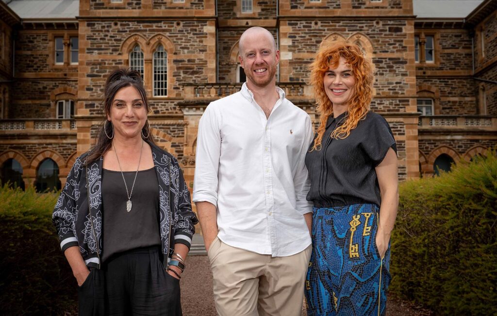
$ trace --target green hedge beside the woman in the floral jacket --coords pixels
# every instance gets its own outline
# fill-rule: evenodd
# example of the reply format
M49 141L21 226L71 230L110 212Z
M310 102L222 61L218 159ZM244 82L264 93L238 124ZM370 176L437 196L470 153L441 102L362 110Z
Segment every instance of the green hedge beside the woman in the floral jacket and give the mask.
M0 315L64 315L76 281L52 225L58 194L0 187Z

